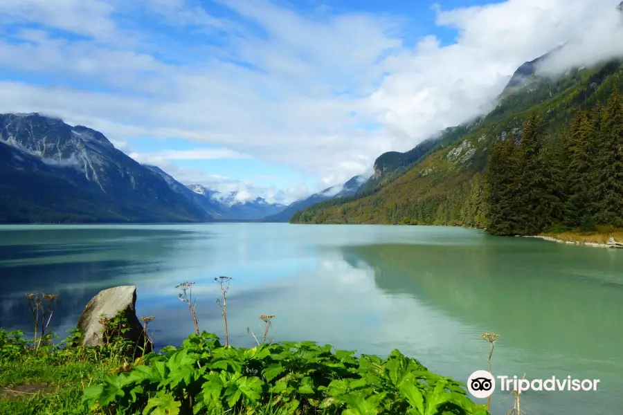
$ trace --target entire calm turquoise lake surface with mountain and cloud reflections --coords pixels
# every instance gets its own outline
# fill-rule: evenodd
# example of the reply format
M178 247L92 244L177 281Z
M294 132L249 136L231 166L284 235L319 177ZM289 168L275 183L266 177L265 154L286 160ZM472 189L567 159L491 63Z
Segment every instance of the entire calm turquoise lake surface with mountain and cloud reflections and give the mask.
M0 326L30 329L26 292L58 293L62 335L98 291L138 287L138 315L154 315L156 344L194 330L176 284L196 282L199 327L223 335L214 277L233 277L231 342L251 346L260 314L269 338L314 340L359 353L399 349L465 382L494 374L600 379L598 391L526 392L526 414L623 413L623 250L489 237L418 226L4 225ZM483 401L484 402L484 401ZM496 391L492 413L513 398Z

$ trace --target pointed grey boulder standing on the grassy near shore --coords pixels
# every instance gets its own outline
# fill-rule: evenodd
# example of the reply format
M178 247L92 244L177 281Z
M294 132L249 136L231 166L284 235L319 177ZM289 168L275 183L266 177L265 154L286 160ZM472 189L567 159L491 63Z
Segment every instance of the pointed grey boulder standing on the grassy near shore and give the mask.
M147 342L145 353L153 350L150 340L145 338L143 326L136 317L136 286L117 286L100 291L93 297L82 311L78 320L78 329L84 333L82 346L101 346L103 343L101 315L107 318L120 315L127 320L129 330L123 334L132 344L143 347ZM138 347L137 351L140 351Z

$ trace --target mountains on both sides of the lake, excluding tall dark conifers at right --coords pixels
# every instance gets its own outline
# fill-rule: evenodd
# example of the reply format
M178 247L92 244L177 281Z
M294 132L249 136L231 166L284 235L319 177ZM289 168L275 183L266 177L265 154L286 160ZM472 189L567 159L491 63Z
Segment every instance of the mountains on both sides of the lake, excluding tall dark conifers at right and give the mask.
M623 11L623 2L618 9ZM536 113L554 137L550 141L559 142L552 151L564 152L557 137L575 114L606 104L613 86L623 88L621 59L573 68L557 79L539 76L539 66L566 47L519 66L489 113L446 128L410 151L382 154L370 177L354 176L287 206L184 185L159 167L136 162L88 127L39 113L0 114L0 223L482 225L482 218L466 212L484 197L473 193L484 192L482 176L496 142L512 138L520 145L524 122Z

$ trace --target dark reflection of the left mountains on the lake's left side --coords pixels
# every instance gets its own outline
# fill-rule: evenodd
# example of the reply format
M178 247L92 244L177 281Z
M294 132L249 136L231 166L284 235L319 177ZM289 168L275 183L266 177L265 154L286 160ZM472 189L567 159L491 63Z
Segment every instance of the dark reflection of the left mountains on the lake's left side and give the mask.
M57 293L51 329L71 329L87 302L111 286L141 284L166 268L191 232L75 228L0 232L0 327L30 333L28 293Z

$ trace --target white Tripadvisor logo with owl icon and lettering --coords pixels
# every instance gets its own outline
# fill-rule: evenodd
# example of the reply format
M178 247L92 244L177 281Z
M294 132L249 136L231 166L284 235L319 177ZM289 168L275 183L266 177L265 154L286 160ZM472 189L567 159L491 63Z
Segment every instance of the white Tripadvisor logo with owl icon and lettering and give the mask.
M596 391L599 379L575 379L571 376L547 379L518 379L497 376L500 391ZM496 378L486 370L477 370L467 378L467 390L474 398L488 398L496 390Z

